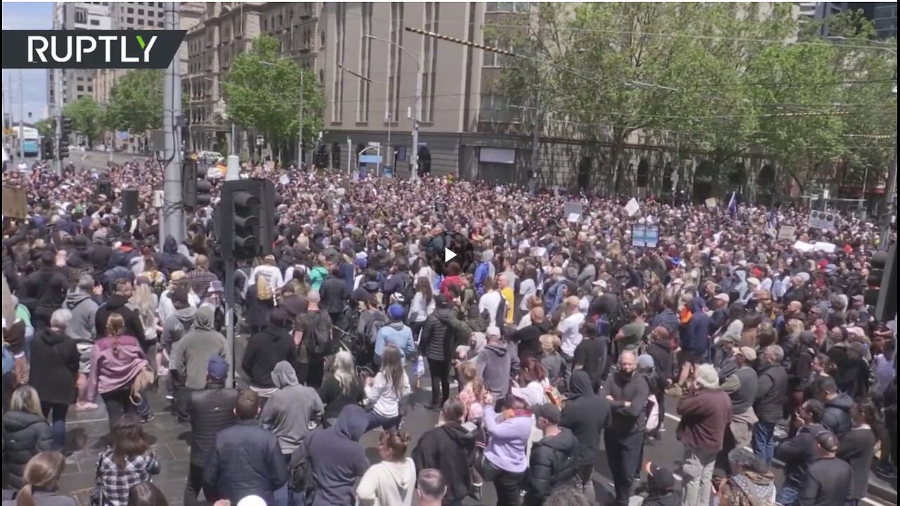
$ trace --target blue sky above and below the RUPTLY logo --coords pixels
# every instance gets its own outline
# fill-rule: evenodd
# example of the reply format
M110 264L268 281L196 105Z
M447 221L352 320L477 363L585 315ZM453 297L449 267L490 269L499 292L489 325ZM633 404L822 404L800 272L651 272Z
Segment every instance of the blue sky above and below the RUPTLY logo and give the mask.
M51 2L3 3L4 30L51 30L53 28L53 4ZM19 121L19 70L3 71L4 108L5 95L12 92L13 118ZM22 90L25 97L26 122L40 120L47 105L47 70L22 70ZM31 111L31 120L28 113Z

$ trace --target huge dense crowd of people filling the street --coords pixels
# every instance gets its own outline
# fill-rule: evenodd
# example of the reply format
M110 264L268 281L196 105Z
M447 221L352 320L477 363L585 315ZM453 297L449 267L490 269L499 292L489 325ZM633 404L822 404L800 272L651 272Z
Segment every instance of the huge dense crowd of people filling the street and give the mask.
M3 222L11 503L70 503L55 488L67 411L97 401L111 437L94 501L164 503L142 426L157 384L191 427L186 504L455 505L486 483L502 506L588 504L601 440L616 505L641 476L648 506L849 506L873 465L896 477L896 325L862 298L879 246L869 222L817 230L788 205L648 199L628 212L451 178L245 173L282 199L272 255L238 264L237 363L211 208L188 213L182 243L158 237L155 162L110 167L110 194L84 171L4 173L29 203L28 219ZM139 191L136 216L121 212L124 186ZM564 213L570 200L581 215ZM657 245L633 245L638 222L660 227ZM444 230L472 242L473 265L429 267ZM231 364L247 388L226 386ZM426 376L437 426L413 438L404 415ZM667 396L678 469L644 464ZM373 464L359 441L379 428Z

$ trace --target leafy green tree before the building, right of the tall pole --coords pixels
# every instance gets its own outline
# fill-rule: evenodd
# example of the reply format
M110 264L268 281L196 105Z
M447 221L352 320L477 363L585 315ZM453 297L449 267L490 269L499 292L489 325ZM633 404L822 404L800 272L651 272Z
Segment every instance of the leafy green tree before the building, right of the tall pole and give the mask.
M260 37L235 58L222 81L222 93L231 120L258 131L276 147L297 138L301 94L303 140L314 140L324 125L325 96L315 73L281 58L280 43L270 36Z

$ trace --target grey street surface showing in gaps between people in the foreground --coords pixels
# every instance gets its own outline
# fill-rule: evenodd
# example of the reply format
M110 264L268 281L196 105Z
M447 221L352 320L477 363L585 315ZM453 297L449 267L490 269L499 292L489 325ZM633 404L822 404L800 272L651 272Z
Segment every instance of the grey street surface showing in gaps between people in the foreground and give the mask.
M238 338L238 356L242 355L242 345L245 342L246 338ZM410 410L404 420L403 429L410 432L413 441L410 451L412 447L415 447L415 443L422 433L433 428L437 423L437 412L428 411L424 407L424 404L430 399L428 375L422 378L422 386L421 390L410 396ZM162 391L163 389L160 388L160 392ZM155 438L153 447L162 465L162 471L154 478L154 483L166 493L170 504L173 506L183 504L184 483L189 467L187 440L190 435L190 427L175 421L171 411L166 409L167 402L159 393L153 394L151 399L156 420L149 422L145 428L148 434ZM650 460L672 469L676 469L680 465L683 447L675 437L675 428L679 419L671 414L675 412L676 403L677 399L671 397L666 399L666 431L660 440L648 439L644 447L644 461ZM97 411L69 411L67 444L77 449L67 460L66 473L60 480L60 487L63 492L74 494L80 505L86 506L88 503L88 496L94 483L96 456L103 447L101 438L107 431L107 420L102 403L101 408ZM379 432L375 430L367 433L362 439L362 443L366 447L366 456L369 457L370 462L376 462L379 458L376 449L378 437ZM780 474L780 471L777 471L777 474ZM601 446L594 472L595 492L601 500L600 504L611 499L612 481L609 476L607 458ZM680 481L678 472L676 472L676 480ZM871 484L873 482L880 489L878 494L873 493L875 490ZM490 483L486 484L483 492L482 501L474 501L470 498L465 504L485 506L494 504L496 496ZM896 504L896 481L893 485L884 483L874 478L873 474L869 487L869 498L864 501L864 504L869 506Z

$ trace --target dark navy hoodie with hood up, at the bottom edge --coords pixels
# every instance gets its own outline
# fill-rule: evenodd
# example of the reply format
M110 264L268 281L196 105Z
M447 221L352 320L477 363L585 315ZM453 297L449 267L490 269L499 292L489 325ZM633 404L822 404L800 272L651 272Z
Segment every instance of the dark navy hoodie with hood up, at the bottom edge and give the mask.
M312 432L302 448L309 459L314 490L311 506L354 503L354 483L365 473L369 461L359 438L368 428L363 408L350 404L328 429Z

